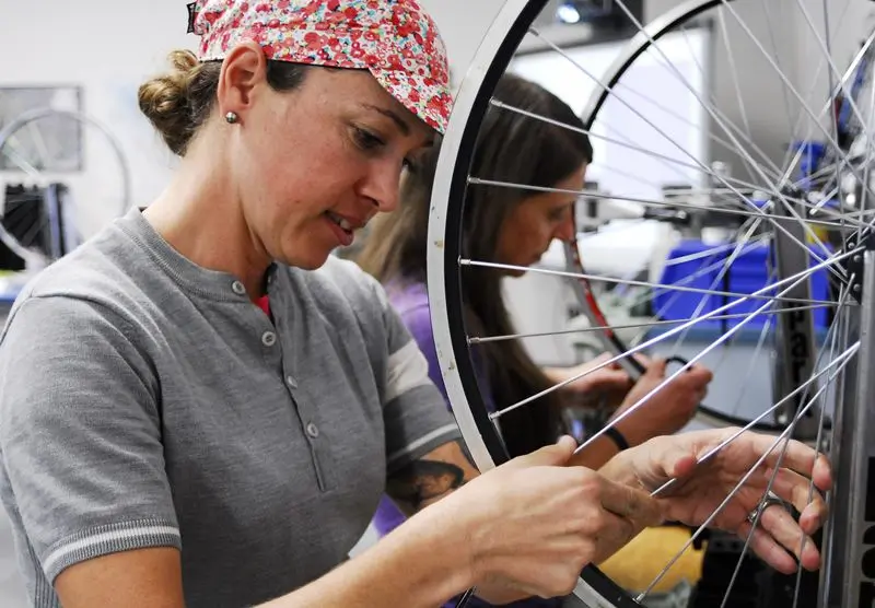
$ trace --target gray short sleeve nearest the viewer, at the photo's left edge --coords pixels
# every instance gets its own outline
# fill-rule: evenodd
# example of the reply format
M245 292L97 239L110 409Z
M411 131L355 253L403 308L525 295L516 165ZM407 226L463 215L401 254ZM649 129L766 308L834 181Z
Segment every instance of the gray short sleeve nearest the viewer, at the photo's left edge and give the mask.
M110 552L180 546L142 334L46 296L18 305L0 338L0 488L49 583Z

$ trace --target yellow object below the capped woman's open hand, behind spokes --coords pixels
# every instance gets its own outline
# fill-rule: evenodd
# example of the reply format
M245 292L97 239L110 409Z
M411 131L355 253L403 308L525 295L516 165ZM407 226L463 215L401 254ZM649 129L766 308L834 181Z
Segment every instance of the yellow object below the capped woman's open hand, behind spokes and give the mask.
M642 592L689 541L690 534L672 526L648 528L598 568L626 591ZM653 587L653 593L669 592L682 580L695 585L702 576L703 558L704 547L700 551L692 547L684 551Z

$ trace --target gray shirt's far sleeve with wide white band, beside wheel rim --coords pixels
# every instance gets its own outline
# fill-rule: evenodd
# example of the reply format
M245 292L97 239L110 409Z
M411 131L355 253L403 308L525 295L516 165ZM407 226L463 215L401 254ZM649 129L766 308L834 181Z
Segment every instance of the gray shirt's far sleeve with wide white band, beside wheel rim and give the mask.
M453 414L429 377L429 362L381 288L388 361L383 391L386 472L459 440Z

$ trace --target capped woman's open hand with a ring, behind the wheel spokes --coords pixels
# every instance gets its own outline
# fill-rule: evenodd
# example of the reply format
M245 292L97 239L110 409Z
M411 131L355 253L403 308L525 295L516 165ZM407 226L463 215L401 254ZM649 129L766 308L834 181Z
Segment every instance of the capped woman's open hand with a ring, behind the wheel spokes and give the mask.
M664 505L665 515L670 521L700 526L768 453L709 524L710 527L747 538L751 528L748 514L766 494L769 480L784 452L784 442L771 449L777 437L744 432L708 461L697 466L697 461L705 454L738 432L736 429L721 429L653 439L618 455L600 472L648 492L656 490L672 478L678 478L658 499ZM815 491L809 501L812 480ZM791 553L806 570L816 570L820 556L810 535L820 528L826 518L827 507L820 492L827 491L831 483L831 470L826 457L818 456L813 448L800 442L791 441L771 490L792 503L802 515L796 523L780 505L768 507L759 518L750 548L780 572L792 573L796 570L796 561ZM804 550L801 551L803 539Z

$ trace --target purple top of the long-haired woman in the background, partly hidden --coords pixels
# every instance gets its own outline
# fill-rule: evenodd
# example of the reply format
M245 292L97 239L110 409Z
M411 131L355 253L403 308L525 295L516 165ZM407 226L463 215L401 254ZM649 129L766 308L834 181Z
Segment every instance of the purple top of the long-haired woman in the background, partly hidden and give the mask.
M415 282L406 283L400 287L398 284L389 284L386 291L393 307L398 312L408 331L410 331L417 344L419 344L419 349L425 355L429 362L429 376L441 390L447 407L450 407L450 401L446 397L446 387L444 386L441 375L441 366L438 362L438 350L434 347L428 288L424 283ZM481 386L483 386L483 384L481 384ZM486 400L487 408L492 410L493 406L489 395L485 395L483 399ZM383 496L373 519L373 525L377 534L383 537L401 525L404 521L405 515L395 506L395 503L387 496ZM560 598L529 598L503 606L511 606L513 608L559 608L561 605L562 600ZM468 600L466 608L488 608L491 606L491 604L472 597ZM455 607L455 601L447 603L445 607Z

